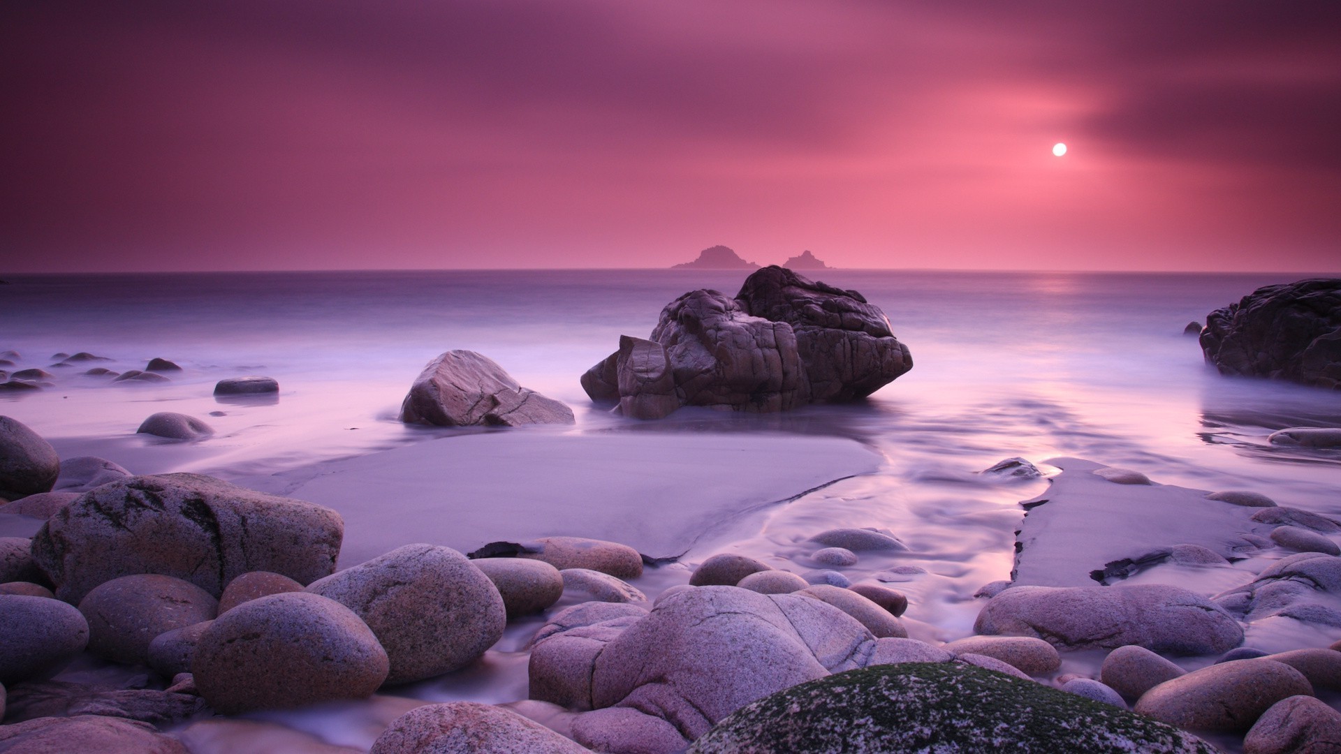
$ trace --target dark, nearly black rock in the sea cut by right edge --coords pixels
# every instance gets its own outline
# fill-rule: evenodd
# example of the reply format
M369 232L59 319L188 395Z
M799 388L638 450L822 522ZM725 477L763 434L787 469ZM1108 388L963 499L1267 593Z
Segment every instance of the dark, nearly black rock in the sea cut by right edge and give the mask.
M1341 389L1341 279L1258 288L1208 314L1200 342L1220 374Z

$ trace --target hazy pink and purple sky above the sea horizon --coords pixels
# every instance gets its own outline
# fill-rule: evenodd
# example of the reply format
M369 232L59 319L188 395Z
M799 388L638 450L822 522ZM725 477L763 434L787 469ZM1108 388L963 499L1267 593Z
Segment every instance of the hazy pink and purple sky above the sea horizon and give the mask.
M0 272L1341 270L1333 0L7 0L0 70Z

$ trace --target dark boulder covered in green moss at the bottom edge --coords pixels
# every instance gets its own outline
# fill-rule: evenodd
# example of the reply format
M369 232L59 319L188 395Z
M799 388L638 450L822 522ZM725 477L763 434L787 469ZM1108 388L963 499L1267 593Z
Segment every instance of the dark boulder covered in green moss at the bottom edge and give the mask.
M1126 710L956 663L904 663L794 686L721 720L689 754L1018 751L1212 754Z

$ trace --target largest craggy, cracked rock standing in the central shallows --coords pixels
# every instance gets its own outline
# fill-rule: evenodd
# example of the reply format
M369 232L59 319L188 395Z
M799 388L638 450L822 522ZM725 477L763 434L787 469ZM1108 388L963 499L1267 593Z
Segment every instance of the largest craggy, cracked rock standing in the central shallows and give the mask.
M661 310L652 337L582 376L597 401L660 419L681 405L786 411L861 398L912 369L908 346L857 291L783 267L750 275L736 298L700 288Z

